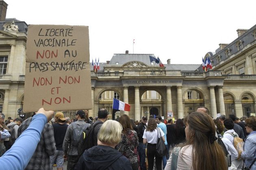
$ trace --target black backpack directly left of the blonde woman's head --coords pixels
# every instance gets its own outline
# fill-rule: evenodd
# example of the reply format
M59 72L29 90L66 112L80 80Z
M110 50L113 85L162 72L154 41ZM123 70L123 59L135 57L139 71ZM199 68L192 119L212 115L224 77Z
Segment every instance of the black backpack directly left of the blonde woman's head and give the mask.
M94 127L98 124L103 123L102 121L98 121L97 123L93 123L85 131L82 132L82 136L80 137L80 142L78 144L78 155L81 156L86 149L94 147Z

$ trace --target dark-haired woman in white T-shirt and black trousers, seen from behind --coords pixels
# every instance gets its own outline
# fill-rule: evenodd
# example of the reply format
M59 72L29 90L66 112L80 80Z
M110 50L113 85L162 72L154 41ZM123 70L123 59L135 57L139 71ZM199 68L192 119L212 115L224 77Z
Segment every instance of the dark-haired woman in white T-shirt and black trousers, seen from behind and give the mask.
M156 144L158 138L162 137L165 142L165 134L161 130L161 128L157 127L156 120L154 118L150 118L148 120L148 126L143 134L143 143L147 145L147 157L148 157L148 170L153 170L154 167L154 157L156 157L156 169L162 169L162 159L163 157L159 157L156 155Z

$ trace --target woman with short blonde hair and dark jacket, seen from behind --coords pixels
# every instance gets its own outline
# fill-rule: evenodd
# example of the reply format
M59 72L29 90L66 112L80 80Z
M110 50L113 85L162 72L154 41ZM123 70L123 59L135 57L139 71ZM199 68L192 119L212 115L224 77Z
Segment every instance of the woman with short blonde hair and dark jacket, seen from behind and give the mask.
M122 129L117 121L104 122L98 133L98 145L85 150L75 170L132 170L130 161L115 149L121 141Z

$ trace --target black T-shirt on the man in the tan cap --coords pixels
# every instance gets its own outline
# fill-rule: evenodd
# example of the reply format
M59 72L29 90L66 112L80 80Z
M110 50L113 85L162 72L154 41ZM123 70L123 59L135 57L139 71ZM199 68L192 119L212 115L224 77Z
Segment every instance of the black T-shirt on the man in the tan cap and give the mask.
M66 134L68 125L66 123L64 123L62 125L59 123L53 123L52 127L53 127L53 131L54 131L54 140L56 143L55 144L56 150L63 151L62 144L63 144L63 140L65 138L65 134Z

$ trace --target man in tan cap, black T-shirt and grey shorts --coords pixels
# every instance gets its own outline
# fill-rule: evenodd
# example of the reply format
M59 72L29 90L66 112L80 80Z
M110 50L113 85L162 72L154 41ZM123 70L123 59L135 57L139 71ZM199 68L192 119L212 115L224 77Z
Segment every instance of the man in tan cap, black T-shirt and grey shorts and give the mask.
M58 112L54 117L55 123L52 124L54 131L54 140L56 146L56 152L50 156L50 161L53 166L54 162L57 164L57 170L63 169L64 152L62 149L63 140L67 131L68 125L65 123L66 119L63 113Z

